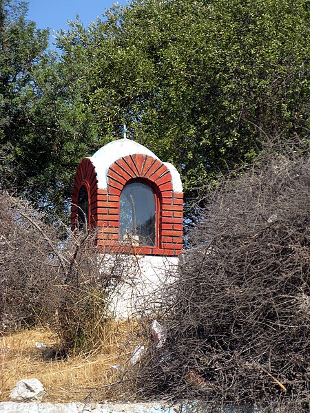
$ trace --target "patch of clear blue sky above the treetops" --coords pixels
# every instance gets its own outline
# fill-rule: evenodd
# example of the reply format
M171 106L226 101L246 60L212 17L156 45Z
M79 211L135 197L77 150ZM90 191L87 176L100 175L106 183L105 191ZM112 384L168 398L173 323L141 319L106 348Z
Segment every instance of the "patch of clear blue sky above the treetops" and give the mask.
M29 0L28 19L37 23L37 28L50 28L51 39L53 30L65 29L68 20L75 20L79 14L84 25L89 25L106 8L110 8L114 0ZM126 0L118 0L118 4L126 4Z

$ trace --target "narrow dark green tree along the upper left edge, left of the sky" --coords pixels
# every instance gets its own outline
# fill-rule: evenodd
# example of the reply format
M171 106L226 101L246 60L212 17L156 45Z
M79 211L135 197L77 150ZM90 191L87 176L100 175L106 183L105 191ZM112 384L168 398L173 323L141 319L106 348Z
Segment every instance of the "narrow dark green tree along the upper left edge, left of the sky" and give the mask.
M1 178L11 182L16 179L14 171L19 174L14 165L17 134L30 124L32 67L48 45L48 31L35 30L34 23L25 21L26 12L24 2L0 0Z

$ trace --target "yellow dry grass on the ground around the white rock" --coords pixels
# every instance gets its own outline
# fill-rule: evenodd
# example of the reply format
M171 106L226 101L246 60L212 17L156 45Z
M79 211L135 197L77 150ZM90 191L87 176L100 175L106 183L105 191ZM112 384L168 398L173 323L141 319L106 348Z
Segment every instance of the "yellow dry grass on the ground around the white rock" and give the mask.
M56 346L58 337L49 329L23 330L2 337L0 401L8 400L17 381L32 377L45 386L44 401L83 401L95 388L120 379L120 372L111 366L128 364L134 348L134 331L133 322L113 321L107 325L100 348L91 354L77 354L61 360L46 359L44 352L36 347L36 341L49 348ZM109 392L106 395L109 396Z

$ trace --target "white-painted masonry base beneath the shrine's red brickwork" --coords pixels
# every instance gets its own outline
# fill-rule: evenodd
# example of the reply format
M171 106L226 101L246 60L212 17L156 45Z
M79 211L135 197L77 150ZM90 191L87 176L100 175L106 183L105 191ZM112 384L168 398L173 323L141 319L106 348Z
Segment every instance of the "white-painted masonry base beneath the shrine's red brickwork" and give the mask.
M118 268L119 267L119 268ZM110 255L103 257L103 271L121 271L122 281L110 287L110 313L126 319L156 310L163 303L165 289L176 276L178 257L154 255Z

